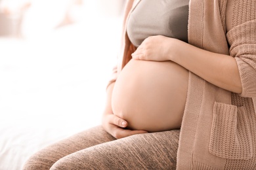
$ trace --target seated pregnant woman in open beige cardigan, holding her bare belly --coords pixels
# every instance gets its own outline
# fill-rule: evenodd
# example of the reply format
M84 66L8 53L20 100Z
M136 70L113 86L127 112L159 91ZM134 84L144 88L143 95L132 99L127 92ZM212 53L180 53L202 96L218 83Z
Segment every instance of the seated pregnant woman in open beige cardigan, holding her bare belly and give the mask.
M24 169L256 169L254 0L128 0L102 126Z

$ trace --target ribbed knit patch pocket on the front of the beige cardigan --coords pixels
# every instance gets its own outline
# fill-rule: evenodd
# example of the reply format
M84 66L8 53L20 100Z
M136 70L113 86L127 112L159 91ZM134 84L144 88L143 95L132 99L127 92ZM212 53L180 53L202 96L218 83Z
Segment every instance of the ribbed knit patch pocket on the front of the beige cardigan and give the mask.
M215 102L209 152L226 159L252 158L253 144L250 128L245 107Z

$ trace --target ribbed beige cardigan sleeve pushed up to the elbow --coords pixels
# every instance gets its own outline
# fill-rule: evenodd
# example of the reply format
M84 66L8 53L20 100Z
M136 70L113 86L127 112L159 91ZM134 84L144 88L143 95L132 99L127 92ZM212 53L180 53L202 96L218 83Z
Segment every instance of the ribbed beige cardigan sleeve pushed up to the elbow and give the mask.
M226 35L230 44L230 55L236 59L242 81L241 97L256 97L255 11L254 0L234 3L232 29Z

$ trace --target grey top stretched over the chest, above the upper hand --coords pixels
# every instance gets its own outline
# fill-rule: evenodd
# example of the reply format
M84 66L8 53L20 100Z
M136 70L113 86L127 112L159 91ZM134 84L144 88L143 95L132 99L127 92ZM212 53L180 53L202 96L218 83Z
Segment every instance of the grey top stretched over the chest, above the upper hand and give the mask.
M135 46L152 35L188 42L189 0L141 0L129 16L127 34Z

